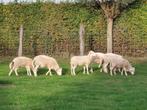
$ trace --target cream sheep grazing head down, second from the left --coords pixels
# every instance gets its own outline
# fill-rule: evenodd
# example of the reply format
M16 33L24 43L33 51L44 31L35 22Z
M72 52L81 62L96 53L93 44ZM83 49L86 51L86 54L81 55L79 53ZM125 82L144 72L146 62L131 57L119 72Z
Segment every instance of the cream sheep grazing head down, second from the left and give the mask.
M34 67L34 76L37 76L37 70L38 68L44 68L47 67L48 68L48 72L46 73L46 75L50 74L50 76L52 76L51 70L55 70L57 75L62 75L62 68L59 67L57 61L53 58L53 57L49 57L46 55L38 55L36 57L34 57L33 59L33 67Z

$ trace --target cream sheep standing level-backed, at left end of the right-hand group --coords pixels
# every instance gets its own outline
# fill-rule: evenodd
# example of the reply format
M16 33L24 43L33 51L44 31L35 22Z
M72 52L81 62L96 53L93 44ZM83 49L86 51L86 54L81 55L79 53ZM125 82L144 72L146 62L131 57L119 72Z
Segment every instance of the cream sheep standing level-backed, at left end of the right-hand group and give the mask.
M90 55L85 55L85 56L73 56L70 60L70 65L71 65L71 75L76 75L75 69L77 66L83 66L83 74L85 74L85 68L87 70L87 74L89 74L88 67L92 62L92 57ZM93 70L91 69L91 72Z

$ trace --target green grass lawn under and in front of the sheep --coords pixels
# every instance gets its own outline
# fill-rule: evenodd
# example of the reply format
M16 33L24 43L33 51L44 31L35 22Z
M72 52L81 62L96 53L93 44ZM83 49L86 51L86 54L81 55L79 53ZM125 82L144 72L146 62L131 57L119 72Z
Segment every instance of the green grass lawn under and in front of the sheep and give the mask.
M61 62L63 76L28 77L24 69L8 77L8 63L0 63L0 110L147 110L147 63L134 64L136 74L111 77L100 73L70 75L68 61ZM95 66L94 66L95 67Z

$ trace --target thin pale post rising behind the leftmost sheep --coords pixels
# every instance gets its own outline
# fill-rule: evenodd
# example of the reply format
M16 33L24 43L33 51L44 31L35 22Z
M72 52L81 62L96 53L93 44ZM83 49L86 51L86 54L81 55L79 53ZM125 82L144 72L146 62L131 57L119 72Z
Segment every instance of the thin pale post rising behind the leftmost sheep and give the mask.
M19 30L18 56L22 56L22 38L23 38L23 25L20 26L20 30Z

